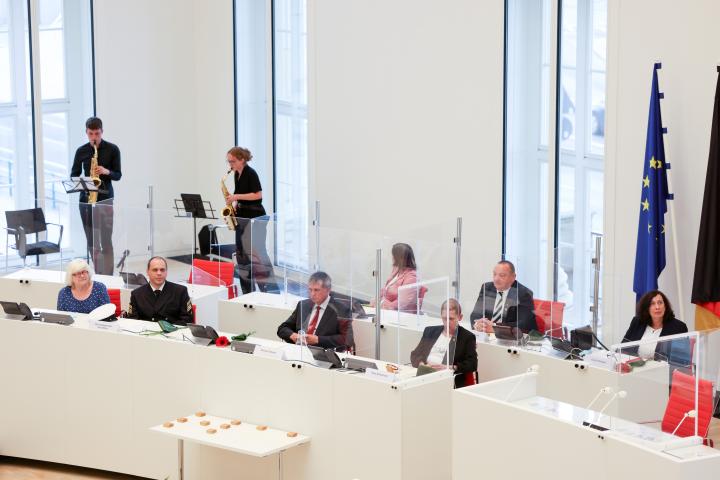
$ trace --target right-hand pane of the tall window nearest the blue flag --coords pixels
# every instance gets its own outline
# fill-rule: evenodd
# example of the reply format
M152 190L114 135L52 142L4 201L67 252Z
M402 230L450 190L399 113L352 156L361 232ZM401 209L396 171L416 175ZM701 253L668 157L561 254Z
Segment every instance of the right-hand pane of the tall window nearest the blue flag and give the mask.
M563 0L561 11L557 278L566 321L581 325L603 235L607 0Z

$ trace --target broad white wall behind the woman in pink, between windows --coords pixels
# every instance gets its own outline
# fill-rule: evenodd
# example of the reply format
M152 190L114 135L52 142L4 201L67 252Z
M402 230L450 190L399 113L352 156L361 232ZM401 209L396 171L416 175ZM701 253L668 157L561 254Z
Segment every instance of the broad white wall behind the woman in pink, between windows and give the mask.
M463 217L471 307L501 252L503 2L310 0L309 32L321 224L411 244L442 224L451 249Z

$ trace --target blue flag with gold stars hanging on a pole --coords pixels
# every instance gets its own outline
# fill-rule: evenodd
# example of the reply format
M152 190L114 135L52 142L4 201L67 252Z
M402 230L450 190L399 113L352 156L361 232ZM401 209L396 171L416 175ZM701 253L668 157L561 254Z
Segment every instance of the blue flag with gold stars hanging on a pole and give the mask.
M657 71L660 64L653 68L653 83L650 93L650 114L648 116L647 141L645 143L645 165L643 168L642 193L640 195L640 219L638 220L637 248L635 250L635 279L633 290L640 297L657 289L657 279L665 268L665 213L667 201L672 200L668 193L665 146L663 134L667 130L662 126Z

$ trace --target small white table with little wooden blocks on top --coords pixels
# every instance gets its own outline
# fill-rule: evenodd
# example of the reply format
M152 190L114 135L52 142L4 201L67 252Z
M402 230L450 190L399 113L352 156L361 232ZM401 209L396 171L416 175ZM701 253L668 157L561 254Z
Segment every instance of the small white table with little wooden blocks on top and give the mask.
M202 422L202 423L201 423ZM278 476L283 478L283 452L310 442L310 437L297 432L286 432L267 425L238 423L230 418L195 412L191 415L170 419L150 430L176 438L178 441L178 478L184 479L185 442L220 448L252 457L268 457L277 454Z

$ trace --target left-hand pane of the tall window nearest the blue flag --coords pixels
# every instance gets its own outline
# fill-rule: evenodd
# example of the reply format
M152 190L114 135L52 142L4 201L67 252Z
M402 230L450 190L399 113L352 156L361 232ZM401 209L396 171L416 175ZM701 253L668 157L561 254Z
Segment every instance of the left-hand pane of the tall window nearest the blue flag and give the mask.
M508 0L505 257L547 299L550 0Z

